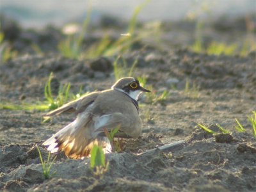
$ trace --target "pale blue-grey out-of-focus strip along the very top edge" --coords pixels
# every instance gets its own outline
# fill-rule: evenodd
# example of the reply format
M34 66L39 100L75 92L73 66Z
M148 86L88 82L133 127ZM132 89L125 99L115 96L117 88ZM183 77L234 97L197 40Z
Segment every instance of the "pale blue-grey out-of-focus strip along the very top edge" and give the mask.
M138 4L144 0L92 1L91 19L113 15L128 20ZM73 20L84 20L88 0L1 0L0 12L17 19L23 28L43 28L47 24L61 26ZM255 13L255 0L152 0L141 10L138 20L180 20L188 16L200 19L217 19L223 15L239 17Z

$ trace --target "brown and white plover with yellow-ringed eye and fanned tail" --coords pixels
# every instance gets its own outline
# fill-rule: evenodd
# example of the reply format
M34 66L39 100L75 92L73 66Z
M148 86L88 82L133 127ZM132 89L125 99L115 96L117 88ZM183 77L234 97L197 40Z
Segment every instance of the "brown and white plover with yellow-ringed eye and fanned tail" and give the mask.
M90 156L94 145L102 146L104 153L111 152L111 144L104 129L119 127L115 136L138 138L142 130L139 116L138 96L150 92L134 77L116 81L111 89L92 92L44 115L50 118L65 112L74 112L76 119L56 132L43 145L52 153L60 150L74 159Z

